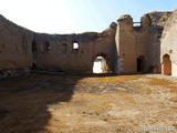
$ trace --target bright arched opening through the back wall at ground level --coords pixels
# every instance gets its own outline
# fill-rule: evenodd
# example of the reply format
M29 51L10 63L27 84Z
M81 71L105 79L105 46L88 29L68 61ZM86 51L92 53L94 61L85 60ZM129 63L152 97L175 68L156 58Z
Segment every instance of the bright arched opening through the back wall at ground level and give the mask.
M96 57L93 63L93 73L107 73L107 61L103 57Z

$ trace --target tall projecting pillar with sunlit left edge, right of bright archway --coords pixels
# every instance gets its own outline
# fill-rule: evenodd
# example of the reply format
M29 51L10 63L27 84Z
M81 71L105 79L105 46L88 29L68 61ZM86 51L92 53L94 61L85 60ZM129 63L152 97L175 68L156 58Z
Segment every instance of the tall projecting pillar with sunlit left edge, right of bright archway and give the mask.
M117 21L116 47L118 55L118 73L133 73L136 71L135 35L131 16L122 16Z

